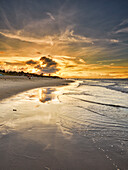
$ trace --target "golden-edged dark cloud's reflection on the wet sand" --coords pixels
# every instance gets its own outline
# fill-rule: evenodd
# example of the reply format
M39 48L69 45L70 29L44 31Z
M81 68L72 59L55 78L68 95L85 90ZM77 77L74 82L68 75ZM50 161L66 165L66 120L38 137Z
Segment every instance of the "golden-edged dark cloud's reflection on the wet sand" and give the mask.
M55 99L55 94L54 94L55 90L56 90L55 88L39 89L39 100L43 103L54 100Z

